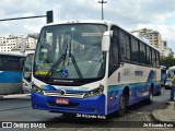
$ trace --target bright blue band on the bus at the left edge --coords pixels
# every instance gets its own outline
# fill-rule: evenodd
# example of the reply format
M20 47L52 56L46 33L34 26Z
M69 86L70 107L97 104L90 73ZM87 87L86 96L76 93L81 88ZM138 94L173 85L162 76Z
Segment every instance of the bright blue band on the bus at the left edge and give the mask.
M21 83L22 72L20 71L2 71L0 72L0 83Z

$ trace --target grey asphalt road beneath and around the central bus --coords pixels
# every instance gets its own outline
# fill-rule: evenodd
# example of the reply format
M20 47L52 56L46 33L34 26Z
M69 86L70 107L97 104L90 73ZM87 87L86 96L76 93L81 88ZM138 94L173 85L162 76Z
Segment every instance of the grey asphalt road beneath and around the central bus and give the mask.
M13 121L13 122L39 122L46 123L46 131L50 130L48 127L54 127L55 130L70 130L70 131L93 131L93 130L152 130L152 129L140 129L140 124L144 122L153 122L151 112L154 109L162 109L166 107L166 102L170 98L170 90L162 88L160 96L154 96L154 100L151 105L144 103L136 104L129 107L128 111L122 117L114 117L110 115L107 119L90 119L90 118L78 118L77 116L63 116L61 114L51 114L45 110L34 110L31 107L30 96L12 95L5 96L0 99L0 121ZM135 122L132 122L135 121ZM140 122L143 121L143 122ZM119 126L119 128L118 128ZM0 129L2 130L2 129ZM4 129L3 129L4 130ZM15 129L11 129L15 130ZM16 129L19 130L19 129ZM25 129L26 130L26 129ZM30 129L31 130L31 129ZM44 130L44 129L33 129Z

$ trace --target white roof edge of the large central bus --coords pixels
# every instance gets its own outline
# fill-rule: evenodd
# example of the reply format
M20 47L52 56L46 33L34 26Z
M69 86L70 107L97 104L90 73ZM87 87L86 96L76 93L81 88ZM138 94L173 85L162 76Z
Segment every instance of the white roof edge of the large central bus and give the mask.
M149 39L147 39L145 37L136 35L136 34L133 34L133 33L131 33L131 32L126 31L125 28L118 26L118 25L117 25L115 22L113 22L113 21L70 20L70 21L59 21L58 23L50 23L50 24L47 24L47 25L45 25L45 26L58 25L58 24L78 24L78 23L80 23L80 24L81 24L81 23L82 23L82 24L83 24L83 23L84 23L84 24L85 24L85 23L86 23L86 24L105 24L105 25L108 25L109 27L110 27L112 25L115 25L115 26L119 27L120 29L127 32L127 33L130 34L131 36L138 38L139 40L148 44L150 47L154 48L156 51L159 51L159 49L156 49L155 47L153 47L153 46L150 44Z

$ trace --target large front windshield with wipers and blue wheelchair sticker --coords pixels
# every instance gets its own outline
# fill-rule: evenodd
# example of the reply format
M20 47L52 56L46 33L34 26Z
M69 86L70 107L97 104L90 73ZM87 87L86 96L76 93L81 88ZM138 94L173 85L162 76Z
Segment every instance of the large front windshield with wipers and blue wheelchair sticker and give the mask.
M105 72L102 24L46 26L38 39L34 76L52 79L100 79Z

